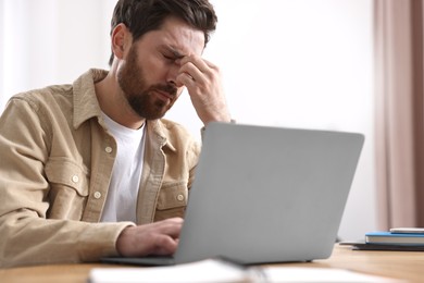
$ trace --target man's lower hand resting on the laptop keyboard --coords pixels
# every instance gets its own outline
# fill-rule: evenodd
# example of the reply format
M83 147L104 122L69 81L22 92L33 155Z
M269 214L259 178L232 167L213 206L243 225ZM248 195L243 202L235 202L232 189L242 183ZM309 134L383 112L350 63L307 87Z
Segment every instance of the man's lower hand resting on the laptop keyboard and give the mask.
M122 231L116 241L117 251L125 257L147 255L172 255L177 248L182 218L128 226Z

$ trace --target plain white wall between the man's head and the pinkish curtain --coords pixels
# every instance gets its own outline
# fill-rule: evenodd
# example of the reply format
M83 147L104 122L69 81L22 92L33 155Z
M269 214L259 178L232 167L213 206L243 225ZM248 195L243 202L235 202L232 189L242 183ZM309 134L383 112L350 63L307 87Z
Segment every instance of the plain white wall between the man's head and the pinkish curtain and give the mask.
M240 123L365 134L339 235L375 230L372 0L212 0L205 58L221 66ZM169 118L200 122L188 96Z

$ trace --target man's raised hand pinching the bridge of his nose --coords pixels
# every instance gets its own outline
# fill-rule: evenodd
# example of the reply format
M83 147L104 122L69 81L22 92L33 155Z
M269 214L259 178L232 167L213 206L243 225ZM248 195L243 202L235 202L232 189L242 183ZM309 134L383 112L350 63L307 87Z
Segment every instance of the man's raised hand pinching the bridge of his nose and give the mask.
M198 56L186 56L178 63L177 83L187 87L191 103L203 124L230 122L219 67Z

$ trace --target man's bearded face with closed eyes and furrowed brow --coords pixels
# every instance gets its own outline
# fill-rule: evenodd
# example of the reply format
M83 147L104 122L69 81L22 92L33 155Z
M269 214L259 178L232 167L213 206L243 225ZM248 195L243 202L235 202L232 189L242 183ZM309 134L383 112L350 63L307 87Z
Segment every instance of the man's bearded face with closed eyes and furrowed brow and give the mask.
M179 59L200 56L203 46L202 32L174 17L133 42L117 71L117 82L132 109L147 120L162 118L184 88L176 83Z

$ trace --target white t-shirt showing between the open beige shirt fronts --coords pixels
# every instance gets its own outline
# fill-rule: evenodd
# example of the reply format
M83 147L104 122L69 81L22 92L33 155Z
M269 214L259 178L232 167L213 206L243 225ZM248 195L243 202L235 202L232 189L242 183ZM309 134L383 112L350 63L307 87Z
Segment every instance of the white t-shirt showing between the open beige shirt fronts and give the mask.
M104 113L103 118L116 140L117 153L101 221L136 223L137 196L145 152L145 125L133 130L116 123Z

